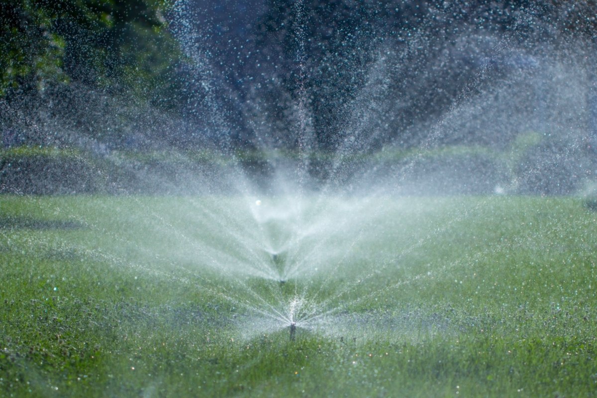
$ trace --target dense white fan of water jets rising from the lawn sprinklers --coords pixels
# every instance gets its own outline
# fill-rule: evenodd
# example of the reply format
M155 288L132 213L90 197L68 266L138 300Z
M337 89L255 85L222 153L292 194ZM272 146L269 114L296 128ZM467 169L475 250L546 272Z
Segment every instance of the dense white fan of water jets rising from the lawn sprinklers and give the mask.
M284 99L272 105L259 97L264 91L260 87L266 84L261 81L263 75L254 76L253 91L245 93L246 102L239 104L240 114L235 116L253 129L249 138L252 149L231 152L232 143L226 140L239 124L230 119L220 97L230 90L230 71L218 67L218 58L210 51L214 33L209 25L193 22L200 16L189 2L177 2L175 32L192 60L189 73L193 81L202 82L197 88L198 95L202 93L197 112L205 125L224 137L218 156L226 159L226 165L208 180L213 187L226 187L227 198L183 200L184 207L189 207L184 215L177 211L149 214L154 219L149 230L164 230L176 237L173 247L177 249L168 254L174 271L184 270L197 279L199 288L244 307L247 322L254 322L255 316L264 317L269 321L261 323L263 328L289 328L294 338L297 329L325 329L324 325L330 324L327 319L350 307L385 299L400 286L438 274L448 276L454 268L472 261L463 255L433 269L420 269L410 258L422 248L439 244L446 235L460 233L458 228L466 224L469 214L491 199L447 212L416 208L417 200L404 195L533 189L528 181L541 172L541 166L525 170L523 156L552 131L559 135L556 141L572 147L583 139L583 133L556 130L565 118L577 115L576 110L583 108L583 95L589 95L567 96L570 84L581 90L589 76L584 73L587 64L583 58L570 57L578 48L562 51L553 41L539 48L535 42L521 40L515 28L500 36L465 24L464 32L451 32L453 42L446 44L423 26L408 33L407 45L398 45L402 34L388 35L362 49L370 58L359 66L361 79L337 110L336 117L342 118L333 122L340 128L338 135L333 144L322 144L317 130L321 115L316 114L313 101L323 94L313 86L313 71L309 70L316 61L309 59L306 6L297 2L290 16L290 88L273 79L267 92L277 90ZM526 23L528 18L533 16L523 14L514 25ZM432 45L445 50L437 62L423 54L432 51ZM259 61L263 59L257 57L255 62ZM408 69L427 68L424 78L433 81L434 73L453 75L456 65L464 68L457 76L466 83L444 87L447 81L439 79L420 87L453 94L444 107L426 109L441 109L435 118L422 121L421 115L415 115L410 126L398 127L401 139L414 134L417 141L416 146L401 146L402 141L388 135L397 128L393 118L402 112L401 102L423 106L404 82L414 78ZM567 87L560 83L564 80ZM393 97L398 94L404 98ZM423 97L426 95L431 94ZM274 131L273 119L268 119L272 118L272 106L286 112L276 118L284 122L284 134L294 137L296 156L278 152L283 148L275 134L282 133ZM561 116L548 116L556 112ZM418 119L421 121L416 123ZM484 134L475 134L475 129ZM156 178L154 184L165 182ZM433 200L427 205L441 206ZM386 219L396 217L396 212L399 220ZM173 218L179 217L186 222L174 222ZM418 232L420 224L427 224L427 229ZM386 242L383 248L376 245L380 241ZM153 249L144 247L149 253ZM487 252L497 249L490 245ZM474 256L483 257L487 252ZM249 335L263 332L257 326L243 328L245 334L252 331Z

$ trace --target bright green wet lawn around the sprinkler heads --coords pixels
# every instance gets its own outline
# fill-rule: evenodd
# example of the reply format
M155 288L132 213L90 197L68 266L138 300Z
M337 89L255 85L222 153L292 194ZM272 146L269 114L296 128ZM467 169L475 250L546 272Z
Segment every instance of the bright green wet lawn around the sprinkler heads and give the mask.
M597 396L581 199L327 200L284 257L321 269L279 285L242 271L293 236L254 200L0 197L0 397ZM332 323L253 329L249 287Z

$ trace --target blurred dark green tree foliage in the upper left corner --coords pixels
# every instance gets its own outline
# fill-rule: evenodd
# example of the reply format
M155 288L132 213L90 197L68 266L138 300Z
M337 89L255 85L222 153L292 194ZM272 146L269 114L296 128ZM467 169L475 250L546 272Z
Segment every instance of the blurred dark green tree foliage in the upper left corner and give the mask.
M159 101L176 89L179 58L167 8L168 0L2 0L0 97L76 81Z

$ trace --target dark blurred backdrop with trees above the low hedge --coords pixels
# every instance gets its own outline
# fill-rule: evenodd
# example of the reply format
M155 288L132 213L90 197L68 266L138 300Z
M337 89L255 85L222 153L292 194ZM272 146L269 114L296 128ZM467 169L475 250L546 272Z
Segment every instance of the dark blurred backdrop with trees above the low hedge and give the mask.
M2 147L321 157L516 151L534 131L517 167L580 180L585 166L569 169L595 141L596 13L595 1L2 1Z

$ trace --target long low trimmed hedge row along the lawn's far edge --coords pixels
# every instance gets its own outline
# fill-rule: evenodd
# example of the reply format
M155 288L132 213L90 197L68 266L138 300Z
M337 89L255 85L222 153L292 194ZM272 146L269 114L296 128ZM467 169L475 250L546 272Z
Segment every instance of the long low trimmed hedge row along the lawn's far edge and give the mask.
M144 155L144 154L140 154ZM173 156L85 156L67 150L0 152L0 193L23 195L190 194L238 190L239 174L269 190L278 166L296 168L297 159ZM439 153L402 159L374 157L310 159L310 183L367 190L378 185L407 195L510 193L568 195L590 178L590 165L549 161L530 151L516 169L490 153ZM275 192L275 190L273 190Z

